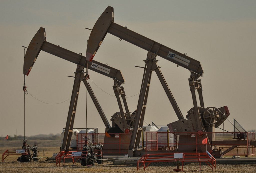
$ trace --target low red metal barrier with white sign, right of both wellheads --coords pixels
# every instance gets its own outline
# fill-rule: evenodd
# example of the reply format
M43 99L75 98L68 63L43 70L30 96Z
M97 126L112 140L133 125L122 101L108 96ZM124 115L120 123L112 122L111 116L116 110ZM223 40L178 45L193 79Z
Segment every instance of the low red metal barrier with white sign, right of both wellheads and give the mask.
M200 171L201 163L204 162L210 166L212 170L216 169L216 159L213 156L209 156L206 153L183 153L183 158L174 158L175 153L163 153L163 154L145 154L137 161L137 170L142 166L144 170L155 162L176 162L182 163L182 171L184 162L198 162ZM141 164L141 165L140 165Z

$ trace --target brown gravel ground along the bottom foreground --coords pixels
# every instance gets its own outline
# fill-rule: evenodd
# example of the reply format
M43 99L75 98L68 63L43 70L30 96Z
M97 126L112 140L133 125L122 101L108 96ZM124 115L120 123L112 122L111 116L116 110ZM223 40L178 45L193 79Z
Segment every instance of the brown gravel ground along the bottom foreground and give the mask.
M41 161L19 163L17 161L0 163L0 172L174 172L174 163L152 163L144 171L143 168L137 171L137 165L95 165L91 167L81 166L80 163L65 163L65 166L56 166L54 161ZM207 165L201 166L201 172L212 172ZM185 172L199 171L199 164L184 164ZM214 172L256 172L255 165L249 164L217 164Z

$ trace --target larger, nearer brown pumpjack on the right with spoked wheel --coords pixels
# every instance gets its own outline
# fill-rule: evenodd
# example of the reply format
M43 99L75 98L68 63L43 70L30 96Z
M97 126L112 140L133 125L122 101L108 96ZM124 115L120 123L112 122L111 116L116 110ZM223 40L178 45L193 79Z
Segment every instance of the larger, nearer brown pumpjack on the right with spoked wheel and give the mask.
M155 71L157 77L159 78L166 95L178 117L178 121L169 123L169 131L175 134L179 134L180 143L191 143L190 134L182 132L196 132L198 134L197 142L201 142L202 139L207 137L206 132L215 132L215 128L220 126L229 116L229 110L227 106L220 108L216 107L205 107L204 100L202 96L202 84L201 80L198 79L204 73L201 63L193 58L190 58L183 53L173 50L167 46L164 46L154 40L144 37L134 31L128 29L126 26L123 27L114 23L114 9L108 6L104 12L101 14L99 19L94 24L86 51L86 58L88 61L93 61L97 50L99 49L102 41L104 40L106 34L112 34L118 37L120 40L125 40L131 44L138 46L142 49L148 51L143 80L141 84L140 96L137 104L137 111L135 113L135 120L132 129L132 135L129 146L129 156L140 156L141 151L137 152L139 149L141 131L143 127L143 121L146 110L147 96L151 82L152 71ZM162 57L168 61L177 64L178 67L186 68L190 71L190 77L188 79L189 88L192 95L193 107L188 111L186 118L184 118L181 113L177 102L174 99L166 80L157 64L156 56ZM196 92L199 95L200 106L197 104ZM208 136L209 142L214 141L214 136ZM193 140L195 140L193 138ZM186 145L187 146L187 145ZM195 146L185 147L179 146L179 150L193 150ZM208 145L207 148L201 145L201 151L206 152L208 150L212 153L211 146Z

